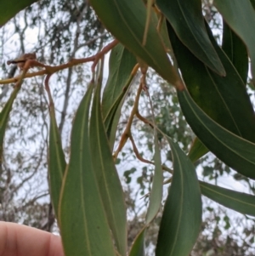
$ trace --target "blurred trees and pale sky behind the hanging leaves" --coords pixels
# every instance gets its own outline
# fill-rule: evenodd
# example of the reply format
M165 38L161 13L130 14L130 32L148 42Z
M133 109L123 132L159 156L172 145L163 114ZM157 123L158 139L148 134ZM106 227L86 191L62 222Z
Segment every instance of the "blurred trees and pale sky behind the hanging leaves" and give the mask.
M221 40L222 20L212 8L212 1L203 1L205 18L214 28L215 37ZM6 61L24 53L36 52L37 59L48 65L59 65L71 58L88 57L99 51L111 35L96 18L86 0L42 0L16 15L0 30L0 77L14 77L19 71L7 66ZM90 65L80 65L54 75L51 87L64 141L65 156L69 156L69 138L72 118L77 105L86 91L90 79ZM107 72L107 67L105 68ZM137 83L134 79L133 86ZM248 82L249 83L249 82ZM54 211L48 193L47 144L48 105L42 87L42 77L24 82L15 100L5 135L5 159L0 166L0 219L31 225L42 230L58 231ZM195 138L180 111L173 87L151 71L148 87L156 123L161 130L176 141L188 153ZM1 87L0 108L10 94L10 86ZM253 91L250 88L251 96ZM127 123L133 106L134 90L131 87L122 107L122 118L118 136ZM147 95L141 96L139 111L150 119L151 110ZM133 139L139 155L145 160L153 158L153 130L149 125L136 120ZM162 162L171 167L171 151L167 142L159 137ZM116 141L117 144L117 141ZM235 187L235 179L242 180L242 191L254 192L250 179L234 174L212 154L203 156L198 162L200 179L214 184ZM131 143L127 143L117 159L122 184L125 187L127 218L129 219L129 242L133 241L144 222L144 209L153 174L153 166L140 162L133 154ZM165 179L170 177L167 173ZM167 185L166 185L167 191ZM191 255L254 255L254 219L234 213L204 198L201 236ZM161 213L150 227L147 235L147 253L156 244L156 232Z

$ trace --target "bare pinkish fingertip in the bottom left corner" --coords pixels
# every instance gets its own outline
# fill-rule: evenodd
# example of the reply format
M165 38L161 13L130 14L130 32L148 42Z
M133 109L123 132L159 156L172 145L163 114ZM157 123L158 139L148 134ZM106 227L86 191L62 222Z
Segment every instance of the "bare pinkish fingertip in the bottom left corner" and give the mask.
M0 221L0 256L65 256L59 236Z

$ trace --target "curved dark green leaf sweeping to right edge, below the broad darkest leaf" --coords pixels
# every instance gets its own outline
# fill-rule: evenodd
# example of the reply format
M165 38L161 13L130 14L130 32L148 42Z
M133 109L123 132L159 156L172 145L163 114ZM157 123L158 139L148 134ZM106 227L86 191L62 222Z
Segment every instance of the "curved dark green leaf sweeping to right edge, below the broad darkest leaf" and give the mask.
M214 122L195 104L186 90L178 92L178 99L184 117L201 142L230 168L255 179L255 144Z

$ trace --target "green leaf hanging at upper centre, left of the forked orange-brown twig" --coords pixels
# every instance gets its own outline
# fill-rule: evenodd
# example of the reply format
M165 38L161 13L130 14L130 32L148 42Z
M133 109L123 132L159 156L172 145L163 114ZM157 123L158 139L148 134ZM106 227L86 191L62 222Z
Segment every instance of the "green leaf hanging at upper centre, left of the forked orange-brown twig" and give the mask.
M109 60L109 77L105 85L102 99L102 114L106 134L110 140L111 151L115 143L116 128L121 116L122 104L132 82L133 66L137 60L122 44L111 50Z

